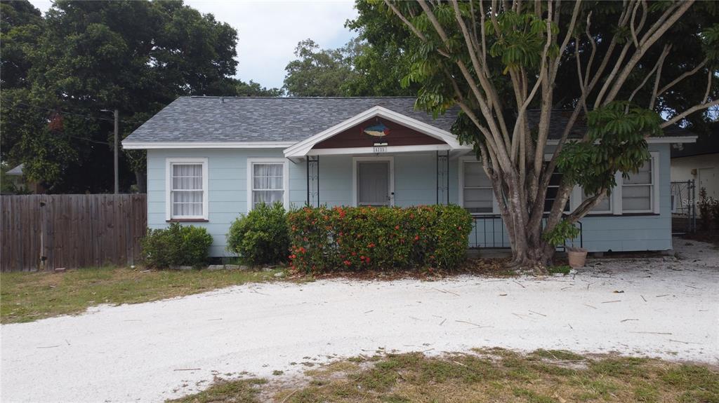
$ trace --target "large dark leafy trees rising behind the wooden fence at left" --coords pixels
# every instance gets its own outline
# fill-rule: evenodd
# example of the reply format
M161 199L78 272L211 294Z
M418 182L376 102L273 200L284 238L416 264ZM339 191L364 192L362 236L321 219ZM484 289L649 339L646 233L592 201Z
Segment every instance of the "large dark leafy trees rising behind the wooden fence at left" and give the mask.
M8 80L24 82L1 94L2 156L51 191L111 189L112 115L101 110L120 110L124 137L179 95L236 91L237 32L182 1L58 0L38 27L27 1L1 5L1 42L22 39L3 48L22 56ZM6 20L9 7L27 18ZM145 153L124 152L121 164L122 187L134 171L143 191Z

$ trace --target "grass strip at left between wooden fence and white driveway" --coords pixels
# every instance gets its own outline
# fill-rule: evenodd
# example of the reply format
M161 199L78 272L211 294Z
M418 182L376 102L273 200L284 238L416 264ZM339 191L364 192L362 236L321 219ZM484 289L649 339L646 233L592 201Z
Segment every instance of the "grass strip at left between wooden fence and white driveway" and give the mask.
M278 271L94 267L60 273L4 272L0 275L0 321L29 322L80 313L101 303L143 303L203 293L229 285L272 280Z

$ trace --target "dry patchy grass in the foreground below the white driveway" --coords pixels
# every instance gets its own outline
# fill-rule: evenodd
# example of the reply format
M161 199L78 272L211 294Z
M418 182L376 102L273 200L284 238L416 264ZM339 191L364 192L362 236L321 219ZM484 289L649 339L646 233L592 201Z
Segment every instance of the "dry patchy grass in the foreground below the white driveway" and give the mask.
M281 376L217 381L172 402L719 402L716 369L567 351L386 354L336 361L306 375L299 387Z

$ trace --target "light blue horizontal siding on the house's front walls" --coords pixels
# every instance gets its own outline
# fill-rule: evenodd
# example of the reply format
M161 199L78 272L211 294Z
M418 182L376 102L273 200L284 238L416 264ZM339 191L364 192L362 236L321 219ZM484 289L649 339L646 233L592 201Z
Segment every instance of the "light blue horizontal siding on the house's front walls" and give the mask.
M669 250L672 248L669 196L669 145L654 144L659 152L661 214L642 216L585 217L582 219L584 245L592 252L630 250ZM194 149L147 151L148 226L166 227L165 166L170 157L208 158L209 222L193 223L206 227L214 237L213 256L228 256L226 233L240 214L247 212L247 158L282 157L281 149ZM321 156L320 201L330 207L352 204L352 156ZM436 202L436 155L398 154L394 156L395 205L412 206ZM290 206L302 207L306 201L306 164L288 162ZM449 163L449 201L459 202L459 163ZM443 201L446 200L444 196ZM489 221L470 234L470 243L508 246L500 220Z

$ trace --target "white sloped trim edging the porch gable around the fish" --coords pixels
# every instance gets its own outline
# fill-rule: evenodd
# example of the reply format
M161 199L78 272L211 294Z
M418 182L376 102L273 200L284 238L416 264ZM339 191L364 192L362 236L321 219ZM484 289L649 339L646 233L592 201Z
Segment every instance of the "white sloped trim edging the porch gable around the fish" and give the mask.
M331 128L321 131L320 133L317 133L316 135L311 136L306 140L299 141L293 146L285 148L285 157L304 157L317 143L320 143L327 138L331 138L332 136L342 133L355 125L359 125L359 123L362 123L365 120L376 117L390 120L394 123L398 123L400 125L416 130L420 133L426 134L427 136L438 138L439 140L447 143L452 149L464 148L464 146L461 146L459 144L459 141L457 141L457 137L454 136L452 133L449 133L448 131L441 130L440 128L436 128L433 125L429 125L427 123L421 122L420 120L410 118L407 115L403 115L401 113L397 113L393 110L389 110L387 108L383 108L382 106L377 105L375 107L365 110L362 113L359 113L358 115L354 115L352 118L344 120L341 123L337 123Z

